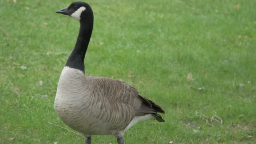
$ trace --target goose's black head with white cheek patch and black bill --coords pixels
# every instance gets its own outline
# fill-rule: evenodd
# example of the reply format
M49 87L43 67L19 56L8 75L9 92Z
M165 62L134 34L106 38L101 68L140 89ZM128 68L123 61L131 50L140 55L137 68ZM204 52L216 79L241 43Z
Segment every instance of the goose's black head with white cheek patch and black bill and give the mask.
M67 8L56 11L56 13L68 15L78 21L83 21L89 17L93 18L93 11L90 5L85 2L73 2Z

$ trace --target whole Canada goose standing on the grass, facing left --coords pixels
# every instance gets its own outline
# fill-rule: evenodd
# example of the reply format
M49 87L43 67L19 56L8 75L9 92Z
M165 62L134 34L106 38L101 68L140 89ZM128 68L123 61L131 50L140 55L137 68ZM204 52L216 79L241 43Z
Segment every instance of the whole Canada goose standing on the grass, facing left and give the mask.
M80 22L75 48L61 72L54 109L60 119L85 135L114 135L124 143L124 132L138 122L164 122L157 112L164 110L146 99L131 85L107 77L85 77L84 58L93 30L93 11L84 2L71 3L56 13Z

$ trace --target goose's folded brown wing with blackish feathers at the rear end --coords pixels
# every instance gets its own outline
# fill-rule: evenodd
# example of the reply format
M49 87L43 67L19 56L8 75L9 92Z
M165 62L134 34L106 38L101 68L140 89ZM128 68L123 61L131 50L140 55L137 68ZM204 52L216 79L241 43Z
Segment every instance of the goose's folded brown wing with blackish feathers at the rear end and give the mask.
M157 112L165 113L164 110L155 102L141 96L139 91L131 85L107 77L87 77L87 79L91 81L91 84L100 87L104 97L109 101L132 106L135 116L152 114L157 121L164 122L162 117L157 114Z

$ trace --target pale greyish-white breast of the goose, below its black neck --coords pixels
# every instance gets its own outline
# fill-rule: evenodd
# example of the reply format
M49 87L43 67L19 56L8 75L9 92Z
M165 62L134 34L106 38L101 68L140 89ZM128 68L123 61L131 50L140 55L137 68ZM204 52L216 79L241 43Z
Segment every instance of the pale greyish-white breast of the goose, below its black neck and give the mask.
M76 131L81 132L81 125L88 115L86 109L91 109L90 91L82 71L64 67L58 83L54 109L61 120Z

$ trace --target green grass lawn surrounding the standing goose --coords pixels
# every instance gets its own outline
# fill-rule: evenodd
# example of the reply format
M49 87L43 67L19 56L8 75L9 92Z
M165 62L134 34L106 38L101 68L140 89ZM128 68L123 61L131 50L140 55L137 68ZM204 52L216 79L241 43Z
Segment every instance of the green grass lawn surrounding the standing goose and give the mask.
M69 3L0 1L3 144L84 142L48 124L68 128L53 102L79 29L77 21L55 13ZM165 123L133 126L125 133L126 144L255 143L255 0L88 3L94 28L86 75L123 80L166 112ZM214 115L222 125L211 121ZM116 139L93 136L92 142L110 144Z

